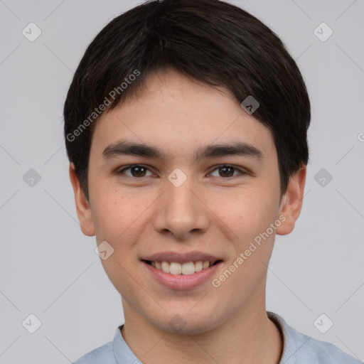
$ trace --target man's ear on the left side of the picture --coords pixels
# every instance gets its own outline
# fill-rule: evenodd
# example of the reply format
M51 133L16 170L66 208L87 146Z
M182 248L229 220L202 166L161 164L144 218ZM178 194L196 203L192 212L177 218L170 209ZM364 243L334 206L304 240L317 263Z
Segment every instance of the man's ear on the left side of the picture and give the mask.
M73 163L70 164L70 181L73 186L73 192L75 193L75 204L81 230L85 235L93 236L95 235L95 227L92 221L90 203L88 202L85 193L82 191Z

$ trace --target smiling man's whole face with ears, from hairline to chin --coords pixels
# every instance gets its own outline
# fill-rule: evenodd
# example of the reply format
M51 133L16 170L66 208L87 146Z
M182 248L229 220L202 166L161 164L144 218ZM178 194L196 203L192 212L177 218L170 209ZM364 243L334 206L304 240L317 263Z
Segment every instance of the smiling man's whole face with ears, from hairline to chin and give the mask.
M228 90L149 75L97 120L89 201L70 173L82 231L113 249L102 264L126 317L197 333L264 306L274 236L294 227L305 168L281 199L272 133Z

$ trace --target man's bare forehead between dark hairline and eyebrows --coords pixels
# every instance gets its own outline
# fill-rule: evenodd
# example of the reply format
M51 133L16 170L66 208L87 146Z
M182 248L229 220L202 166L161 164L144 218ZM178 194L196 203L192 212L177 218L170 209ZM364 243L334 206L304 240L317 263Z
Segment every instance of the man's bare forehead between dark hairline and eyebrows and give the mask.
M264 154L275 151L272 133L247 114L224 87L213 87L176 70L151 73L132 99L102 116L92 144L103 151L119 140L158 146L168 156L201 146L244 142Z

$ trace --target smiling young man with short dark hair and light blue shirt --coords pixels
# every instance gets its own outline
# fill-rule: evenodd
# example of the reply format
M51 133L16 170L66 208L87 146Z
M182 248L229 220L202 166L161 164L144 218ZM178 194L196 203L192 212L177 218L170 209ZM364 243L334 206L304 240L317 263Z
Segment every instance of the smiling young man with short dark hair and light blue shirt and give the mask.
M265 308L276 234L301 210L310 103L257 18L149 1L87 48L65 102L82 232L122 296L90 363L359 363Z

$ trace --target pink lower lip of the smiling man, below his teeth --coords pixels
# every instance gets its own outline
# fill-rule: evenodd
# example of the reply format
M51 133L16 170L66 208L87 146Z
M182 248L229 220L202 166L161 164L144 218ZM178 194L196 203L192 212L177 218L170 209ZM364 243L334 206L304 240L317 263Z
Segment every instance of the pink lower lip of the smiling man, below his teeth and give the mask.
M164 286L171 289L192 289L200 286L206 282L213 274L216 273L220 264L223 262L218 262L206 269L201 270L193 274L171 274L162 272L159 269L154 268L151 264L142 262L146 269L149 269L151 276L154 277L158 282L164 284Z

